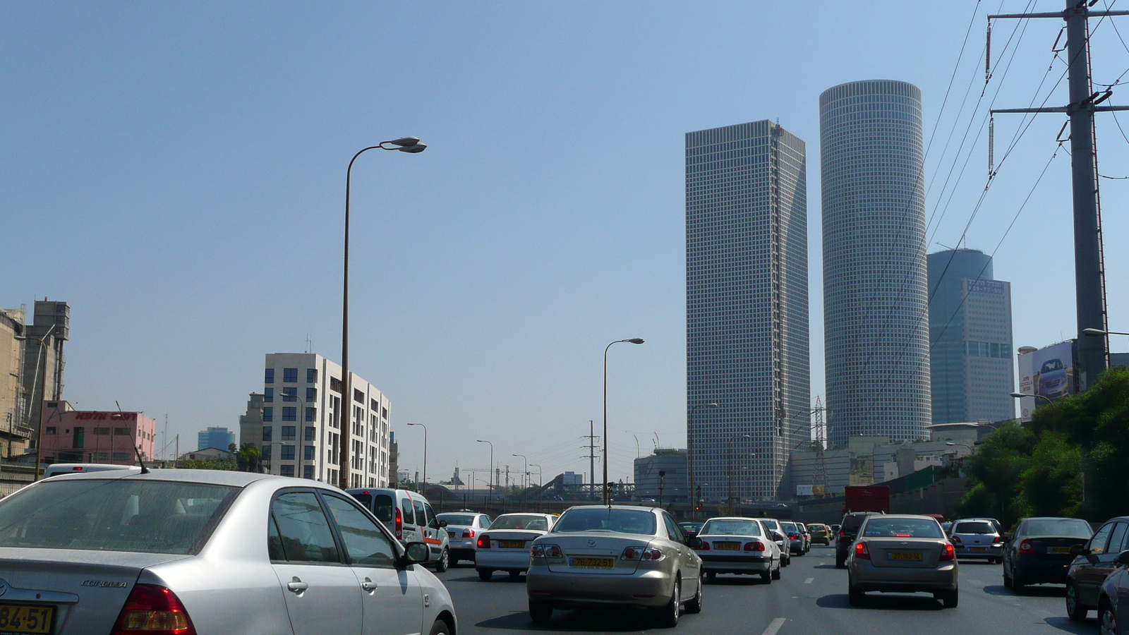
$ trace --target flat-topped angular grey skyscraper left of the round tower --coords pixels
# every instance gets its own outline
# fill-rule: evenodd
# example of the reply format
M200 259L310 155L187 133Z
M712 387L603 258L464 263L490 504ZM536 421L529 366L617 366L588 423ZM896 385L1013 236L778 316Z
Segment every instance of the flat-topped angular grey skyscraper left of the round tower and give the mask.
M779 124L686 133L694 496L790 496L788 454L811 434L806 192L804 141Z

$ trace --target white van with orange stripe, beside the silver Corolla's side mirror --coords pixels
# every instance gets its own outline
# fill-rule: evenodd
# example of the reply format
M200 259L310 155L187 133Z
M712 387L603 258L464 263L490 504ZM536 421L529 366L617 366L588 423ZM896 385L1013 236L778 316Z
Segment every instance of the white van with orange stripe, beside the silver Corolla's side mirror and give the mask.
M401 542L426 542L431 548L428 566L437 572L447 571L450 564L450 537L444 529L447 522L435 517L422 494L386 487L358 487L345 493L368 507Z

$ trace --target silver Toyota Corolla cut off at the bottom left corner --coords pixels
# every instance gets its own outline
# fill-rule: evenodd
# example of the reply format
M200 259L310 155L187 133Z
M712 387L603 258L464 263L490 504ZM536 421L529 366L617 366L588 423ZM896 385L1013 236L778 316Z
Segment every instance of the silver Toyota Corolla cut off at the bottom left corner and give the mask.
M63 476L0 502L0 610L46 635L455 635L427 551L309 480Z

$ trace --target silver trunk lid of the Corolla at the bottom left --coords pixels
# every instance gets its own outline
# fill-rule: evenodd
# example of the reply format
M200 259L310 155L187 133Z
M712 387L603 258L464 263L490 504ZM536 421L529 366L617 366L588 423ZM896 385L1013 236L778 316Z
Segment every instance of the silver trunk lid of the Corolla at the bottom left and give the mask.
M186 558L170 554L5 549L0 606L53 607L56 635L110 633L146 567Z

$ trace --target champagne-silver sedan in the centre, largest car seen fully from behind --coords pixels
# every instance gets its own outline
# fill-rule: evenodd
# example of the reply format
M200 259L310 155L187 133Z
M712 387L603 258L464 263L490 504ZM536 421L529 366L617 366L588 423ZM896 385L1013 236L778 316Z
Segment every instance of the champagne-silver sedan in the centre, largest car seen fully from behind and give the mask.
M553 609L625 606L674 626L683 604L701 610L700 542L662 508L570 507L530 549L530 617L545 624Z

